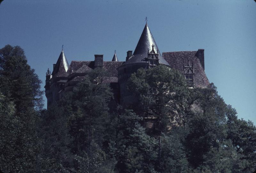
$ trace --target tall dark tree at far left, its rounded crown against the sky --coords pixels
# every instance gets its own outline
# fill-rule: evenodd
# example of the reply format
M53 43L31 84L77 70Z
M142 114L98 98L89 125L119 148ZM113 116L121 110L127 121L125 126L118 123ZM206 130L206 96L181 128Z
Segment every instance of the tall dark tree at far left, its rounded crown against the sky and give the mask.
M22 114L29 107L39 110L43 106L43 91L35 70L27 64L25 52L19 46L6 45L0 49L0 87L3 94L15 104Z

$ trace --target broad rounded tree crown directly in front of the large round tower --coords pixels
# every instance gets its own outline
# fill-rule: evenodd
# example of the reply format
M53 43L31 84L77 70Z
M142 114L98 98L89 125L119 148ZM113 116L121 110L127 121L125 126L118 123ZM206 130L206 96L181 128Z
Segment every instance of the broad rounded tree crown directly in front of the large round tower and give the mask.
M131 108L143 118L155 118L153 133L157 136L173 124L184 125L195 101L190 98L194 90L188 90L180 73L164 65L138 69L129 79L128 89L138 99Z

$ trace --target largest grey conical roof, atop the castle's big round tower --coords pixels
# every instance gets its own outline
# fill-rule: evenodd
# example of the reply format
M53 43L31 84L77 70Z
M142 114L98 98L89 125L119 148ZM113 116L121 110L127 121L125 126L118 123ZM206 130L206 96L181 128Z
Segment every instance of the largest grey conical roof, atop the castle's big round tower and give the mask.
M143 31L142 31L142 34L140 36L140 40L135 48L135 51L132 55L132 57L124 62L123 65L125 64L133 64L133 63L148 63L145 61L145 58L148 57L148 50L151 51L152 50L152 45L154 44L154 50L157 51L158 50L158 59L159 59L159 63L160 64L165 64L165 65L168 65L168 62L162 57L158 47L157 47L157 44L156 44L156 41L153 37L153 35L151 34L150 32L150 29L148 28L148 24L146 23Z

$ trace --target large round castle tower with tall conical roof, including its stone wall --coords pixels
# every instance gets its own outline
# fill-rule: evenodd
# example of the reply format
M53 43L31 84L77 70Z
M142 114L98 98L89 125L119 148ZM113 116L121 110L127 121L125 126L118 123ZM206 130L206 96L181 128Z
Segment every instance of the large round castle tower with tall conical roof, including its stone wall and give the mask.
M170 66L162 57L147 23L142 31L134 53L132 54L131 52L132 51L127 52L126 61L118 67L121 104L125 105L134 102L132 93L128 92L126 85L132 73L136 72L139 68L153 68L158 64Z

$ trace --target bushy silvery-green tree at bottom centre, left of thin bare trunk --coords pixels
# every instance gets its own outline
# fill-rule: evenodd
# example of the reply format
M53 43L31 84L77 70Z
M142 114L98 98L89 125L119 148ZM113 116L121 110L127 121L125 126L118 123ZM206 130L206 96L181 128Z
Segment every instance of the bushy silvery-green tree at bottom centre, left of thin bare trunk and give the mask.
M155 172L157 141L146 134L140 120L132 110L124 110L120 115L114 154L118 172Z

